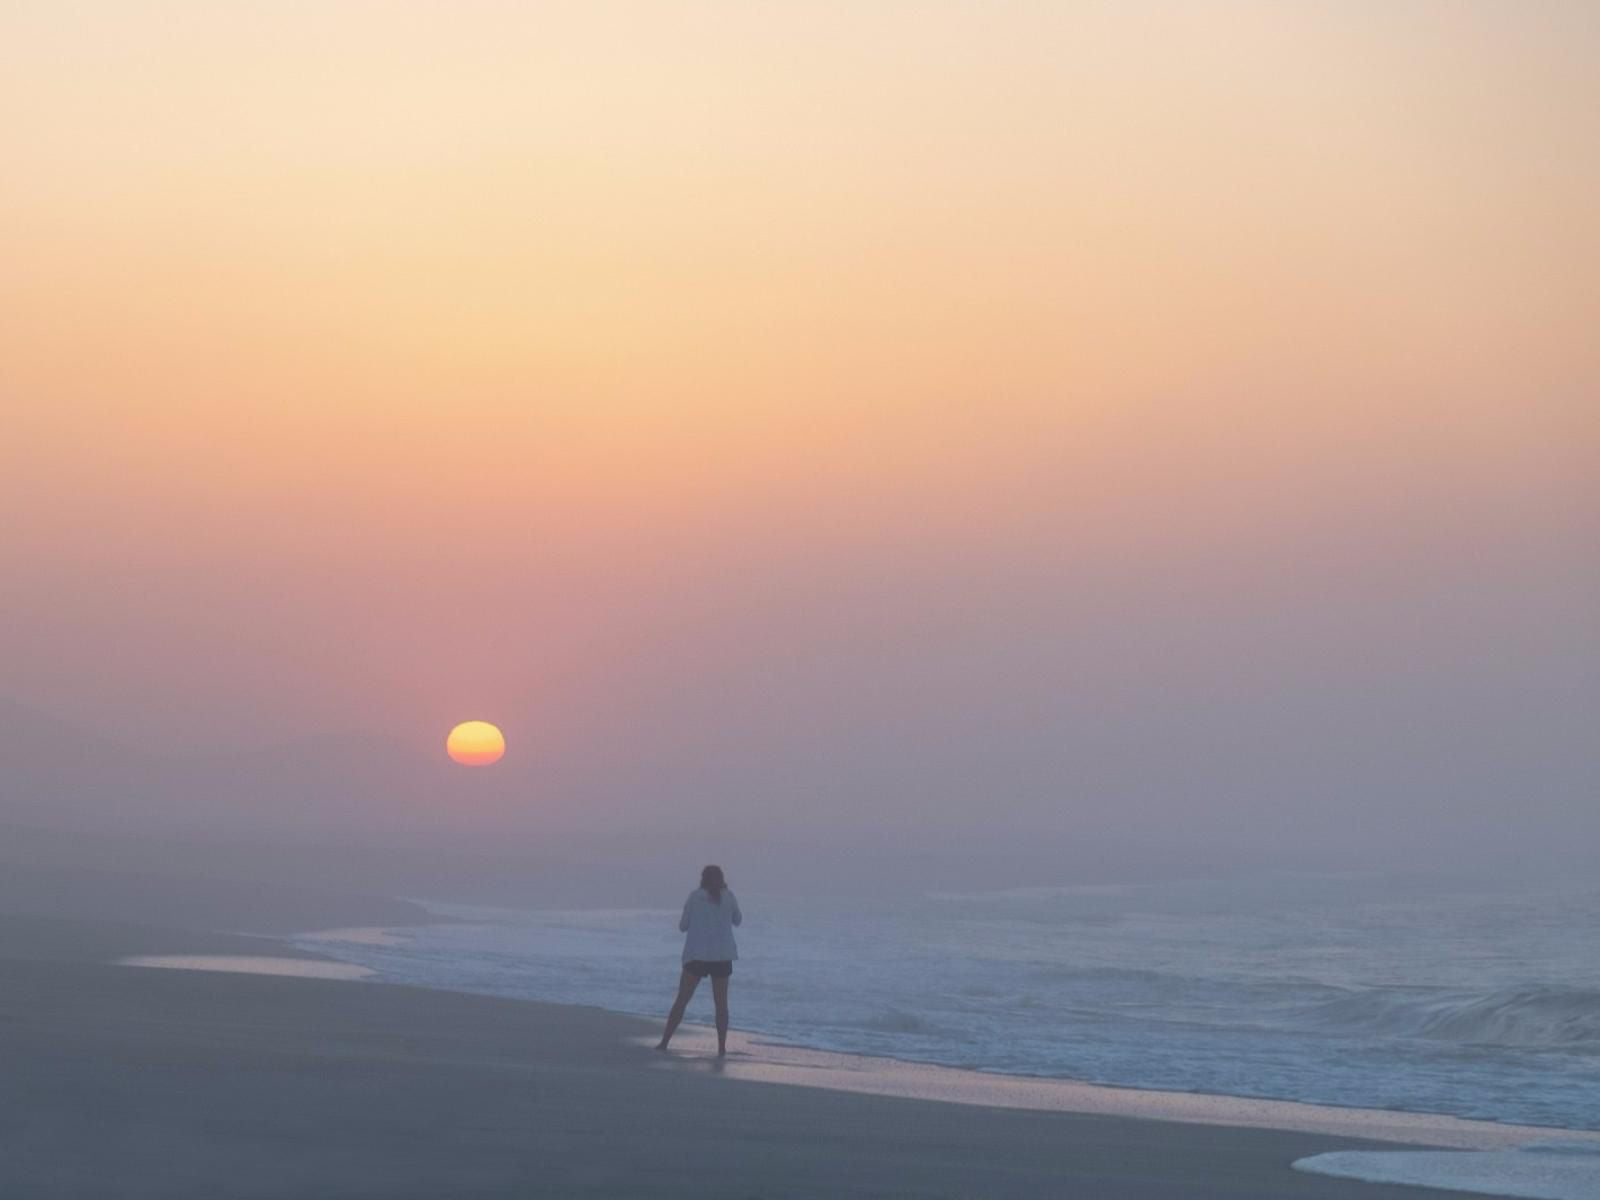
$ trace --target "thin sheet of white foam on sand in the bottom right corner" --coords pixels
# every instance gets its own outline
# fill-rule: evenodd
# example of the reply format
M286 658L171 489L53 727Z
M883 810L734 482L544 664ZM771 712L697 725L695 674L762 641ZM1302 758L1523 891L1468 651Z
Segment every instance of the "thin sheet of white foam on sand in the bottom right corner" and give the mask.
M1336 1150L1301 1158L1294 1170L1518 1200L1595 1200L1600 1142L1536 1142L1517 1150Z

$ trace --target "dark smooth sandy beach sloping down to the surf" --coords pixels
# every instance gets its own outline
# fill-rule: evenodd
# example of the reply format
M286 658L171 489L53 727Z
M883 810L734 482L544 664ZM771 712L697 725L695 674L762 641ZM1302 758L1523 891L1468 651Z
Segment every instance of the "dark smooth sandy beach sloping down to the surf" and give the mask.
M1419 1195L1290 1166L1392 1141L797 1086L800 1051L736 1038L718 1070L598 1010L107 962L306 957L270 939L0 925L8 1198Z

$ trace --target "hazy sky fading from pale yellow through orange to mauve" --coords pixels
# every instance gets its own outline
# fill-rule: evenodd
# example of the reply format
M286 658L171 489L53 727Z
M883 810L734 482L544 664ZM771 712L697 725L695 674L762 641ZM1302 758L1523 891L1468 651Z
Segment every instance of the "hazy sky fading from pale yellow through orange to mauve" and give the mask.
M528 838L1600 846L1597 59L1558 2L11 0L0 694L493 720L440 827Z

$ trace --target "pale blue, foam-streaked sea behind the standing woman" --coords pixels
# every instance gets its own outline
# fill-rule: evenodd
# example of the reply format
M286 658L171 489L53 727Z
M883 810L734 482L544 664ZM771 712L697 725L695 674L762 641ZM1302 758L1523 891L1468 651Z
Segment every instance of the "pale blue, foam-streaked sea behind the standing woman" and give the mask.
M1595 885L1266 875L739 902L733 1021L773 1040L1600 1130ZM680 904L434 906L458 923L315 947L397 982L659 1018Z

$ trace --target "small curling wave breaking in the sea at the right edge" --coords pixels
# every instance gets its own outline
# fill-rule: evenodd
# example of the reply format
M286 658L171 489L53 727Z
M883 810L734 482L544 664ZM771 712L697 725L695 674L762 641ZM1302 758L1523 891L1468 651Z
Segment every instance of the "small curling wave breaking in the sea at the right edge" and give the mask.
M1491 1046L1600 1050L1600 990L1506 987L1467 992L1354 992L1307 1010L1339 1029Z

